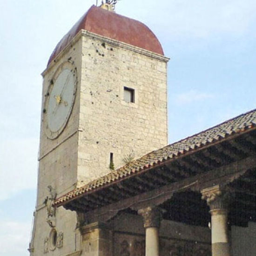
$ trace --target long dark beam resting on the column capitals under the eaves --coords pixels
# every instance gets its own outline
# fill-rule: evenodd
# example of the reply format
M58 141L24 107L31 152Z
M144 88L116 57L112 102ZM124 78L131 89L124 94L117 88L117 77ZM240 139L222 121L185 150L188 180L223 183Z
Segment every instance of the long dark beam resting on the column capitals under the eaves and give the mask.
M233 162L220 168L215 168L204 174L195 175L179 182L173 182L161 188L147 191L145 193L135 195L134 197L91 210L87 213L88 220L90 222L107 221L110 216L109 212L113 212L113 209L115 209L115 211L126 208L141 209L151 204L162 204L169 200L173 193L186 191L188 189L200 192L202 189L212 186L213 183L216 184L219 181L222 181L224 185L230 181L234 181L234 179L238 179L240 175L243 175L243 173L253 167L256 167L256 158L248 157L241 161ZM95 219L95 216L99 215L101 216L101 219Z

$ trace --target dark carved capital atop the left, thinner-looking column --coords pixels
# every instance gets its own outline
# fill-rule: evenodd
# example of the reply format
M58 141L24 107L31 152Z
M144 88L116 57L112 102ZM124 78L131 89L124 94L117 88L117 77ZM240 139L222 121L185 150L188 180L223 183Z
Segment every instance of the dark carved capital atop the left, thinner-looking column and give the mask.
M144 228L159 228L162 220L162 212L158 207L147 207L138 210L138 214L144 219Z

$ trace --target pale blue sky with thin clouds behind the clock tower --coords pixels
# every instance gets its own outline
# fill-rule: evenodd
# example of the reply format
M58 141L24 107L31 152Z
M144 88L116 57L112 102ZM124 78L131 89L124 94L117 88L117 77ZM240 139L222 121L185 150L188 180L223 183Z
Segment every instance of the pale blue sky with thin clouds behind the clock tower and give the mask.
M95 0L0 1L0 256L27 256L35 205L41 72ZM100 0L99 0L100 2ZM121 0L168 63L169 142L256 108L255 0Z

